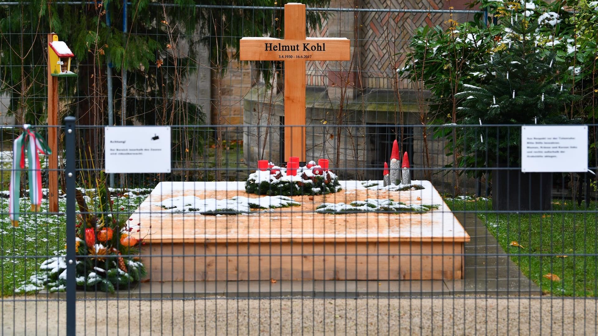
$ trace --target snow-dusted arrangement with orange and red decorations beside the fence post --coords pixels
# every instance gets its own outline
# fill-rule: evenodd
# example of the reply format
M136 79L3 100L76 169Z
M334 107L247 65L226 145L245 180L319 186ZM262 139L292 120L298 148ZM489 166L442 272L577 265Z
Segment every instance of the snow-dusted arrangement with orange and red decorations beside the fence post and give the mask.
M86 291L114 292L130 288L146 276L139 259L139 226L131 224L128 216L112 209L108 188L103 175L96 179L97 188L87 188L84 196L77 190L77 287ZM87 203L90 203L88 206ZM94 211L91 212L90 208ZM65 246L66 248L66 246ZM30 285L50 292L66 290L66 262L57 256L42 262L39 272L30 277Z

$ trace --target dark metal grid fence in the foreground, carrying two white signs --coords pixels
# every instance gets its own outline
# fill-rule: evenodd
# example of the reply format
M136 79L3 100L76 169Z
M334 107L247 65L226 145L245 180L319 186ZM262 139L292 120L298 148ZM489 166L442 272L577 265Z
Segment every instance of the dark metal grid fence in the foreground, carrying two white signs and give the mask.
M352 134L368 129L328 127L352 129ZM388 127L363 135L380 135ZM526 333L540 327L563 334L593 333L598 256L594 178L555 173L538 184L525 176L533 173L503 165L499 152L471 151L480 143L469 142L460 150L489 164L463 169L448 167L449 160L428 166L422 154L407 148L422 146L422 126L410 127L413 139L403 141L408 145L402 150L414 152L411 178L423 189L388 190L380 181L382 167L363 166L344 154L337 164L334 152L328 157L315 153L308 160L330 158L329 172L338 177L341 190L318 195L301 185L289 190L285 204L285 198L276 196L266 200L269 194L283 194L281 185L270 184L261 195L246 193L245 181L251 180L258 163L244 159L240 143L227 145L226 163L215 166L210 132L202 140L205 152L193 164L173 164L171 175L119 174L117 187L110 188L108 175L102 173L102 152L94 158L97 166L77 159L77 139L87 132L103 138L103 127L67 121L59 132L65 137L59 157L65 158L60 173L66 188L60 212L48 212L45 198L41 212L29 212L25 193L21 225L14 228L8 200L2 198L4 331L62 333L60 325L66 323L86 334L502 334L502 328ZM196 136L197 128L173 126L172 132ZM588 128L591 135L596 126ZM46 127L35 129L44 134ZM492 143L499 129L520 136L520 126L449 125L429 131L460 135L471 130L472 139L482 134ZM13 139L18 130L5 129L3 140ZM322 133L321 138L327 134L313 133ZM279 143L271 140L269 146ZM450 146L444 138L429 143L440 151ZM367 144L363 149L375 150ZM447 157L438 154L436 159ZM288 174L288 166L273 163L282 167L281 175ZM3 171L10 172L10 164L4 164ZM595 171L594 164L590 169ZM355 177L367 170L379 178ZM223 182L211 182L218 171ZM500 181L503 177L507 181ZM508 197L517 198L515 209L493 205L501 184ZM455 185L459 197L454 196ZM254 203L236 196L254 198ZM102 197L108 197L112 207L102 206ZM547 208L542 207L543 197L548 197ZM210 198L213 204L205 201ZM218 206L216 200L228 203ZM364 205L371 208L360 207ZM243 213L243 206L249 213ZM112 220L118 224L110 224ZM82 226L94 228L94 246L103 243L118 251L90 252ZM103 227L140 242L127 249L130 240L107 239ZM464 233L469 239L463 239ZM429 239L430 234L435 238ZM141 262L141 278L123 279L124 272L118 277L119 260L126 262L132 277L135 263ZM547 274L558 278L548 279ZM111 285L90 285L97 277ZM474 325L475 332L468 329Z

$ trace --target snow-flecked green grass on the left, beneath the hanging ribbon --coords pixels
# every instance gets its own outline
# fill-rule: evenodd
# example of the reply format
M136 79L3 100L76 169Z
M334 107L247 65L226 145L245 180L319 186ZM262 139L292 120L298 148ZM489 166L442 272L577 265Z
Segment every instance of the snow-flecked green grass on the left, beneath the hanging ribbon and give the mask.
M113 196L114 210L133 212L146 196ZM42 200L41 211L29 211L29 198L21 198L19 227L8 218L8 198L0 198L0 290L13 295L24 280L36 274L39 264L48 256L64 254L66 215L48 215L48 200ZM59 200L60 212L66 212L66 198Z

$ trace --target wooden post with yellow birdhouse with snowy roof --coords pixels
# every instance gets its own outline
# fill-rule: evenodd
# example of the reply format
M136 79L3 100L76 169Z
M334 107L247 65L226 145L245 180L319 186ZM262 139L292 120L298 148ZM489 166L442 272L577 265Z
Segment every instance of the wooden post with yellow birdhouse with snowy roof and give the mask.
M58 212L58 78L76 76L71 72L73 56L65 42L58 41L58 35L48 34L48 146L52 151L48 157L50 212ZM66 67L63 67L61 57L68 57Z

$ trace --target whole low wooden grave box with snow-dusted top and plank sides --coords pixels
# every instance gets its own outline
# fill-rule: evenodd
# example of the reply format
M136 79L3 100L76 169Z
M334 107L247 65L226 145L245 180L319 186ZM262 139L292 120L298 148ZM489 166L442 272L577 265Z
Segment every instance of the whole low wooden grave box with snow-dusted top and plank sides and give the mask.
M460 279L469 236L428 181L417 191L370 190L341 181L326 196L292 197L301 206L249 215L172 213L167 198L260 197L245 182L160 182L131 216L144 238L152 281ZM382 184L382 182L380 182ZM425 213L316 213L319 204L366 198L440 204Z

